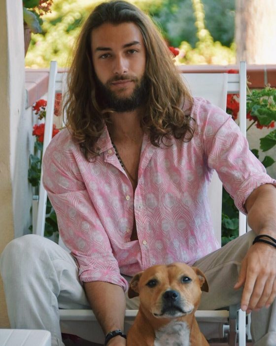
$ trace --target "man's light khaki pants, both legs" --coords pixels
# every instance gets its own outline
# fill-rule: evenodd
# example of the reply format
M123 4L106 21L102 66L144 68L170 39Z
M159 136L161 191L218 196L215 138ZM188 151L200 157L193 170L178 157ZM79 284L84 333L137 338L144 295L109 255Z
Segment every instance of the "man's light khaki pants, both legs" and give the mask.
M242 290L236 291L233 286L254 237L253 232L248 232L194 263L205 273L209 284L200 309L240 303ZM26 235L6 246L0 271L11 328L49 330L52 346L62 346L58 308L89 306L74 259L52 241ZM127 298L128 308L137 306L138 299ZM252 312L251 332L255 346L276 346L276 302L269 309Z

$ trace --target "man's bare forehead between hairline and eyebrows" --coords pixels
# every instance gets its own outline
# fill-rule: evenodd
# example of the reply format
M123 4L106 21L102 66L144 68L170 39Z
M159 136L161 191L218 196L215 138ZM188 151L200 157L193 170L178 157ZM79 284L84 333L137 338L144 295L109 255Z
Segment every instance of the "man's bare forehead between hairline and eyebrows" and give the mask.
M143 45L142 34L138 26L131 22L116 25L104 23L98 28L93 29L91 33L92 52L97 47L118 49L132 42L138 42Z

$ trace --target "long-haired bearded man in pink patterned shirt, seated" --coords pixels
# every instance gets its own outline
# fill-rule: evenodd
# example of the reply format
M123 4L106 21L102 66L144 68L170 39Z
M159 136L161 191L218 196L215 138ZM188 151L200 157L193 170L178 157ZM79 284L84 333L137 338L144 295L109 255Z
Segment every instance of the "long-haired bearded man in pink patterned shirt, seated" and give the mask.
M58 307L86 306L87 297L105 334L123 330L129 277L177 260L205 272L201 308L241 303L253 311L255 345L275 346L276 181L230 116L191 98L146 15L124 1L96 7L68 96L68 129L47 149L43 183L78 269L50 241L12 241L1 258L12 327L48 329L62 345ZM221 250L207 203L213 169L255 232ZM107 345L126 340L118 334Z

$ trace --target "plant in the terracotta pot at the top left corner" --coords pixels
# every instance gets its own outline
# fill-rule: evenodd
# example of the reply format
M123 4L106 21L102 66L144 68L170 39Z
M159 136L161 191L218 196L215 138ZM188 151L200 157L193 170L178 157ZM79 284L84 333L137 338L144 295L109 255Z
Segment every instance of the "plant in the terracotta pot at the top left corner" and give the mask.
M24 23L31 29L33 34L42 32L41 16L51 12L53 0L23 0Z

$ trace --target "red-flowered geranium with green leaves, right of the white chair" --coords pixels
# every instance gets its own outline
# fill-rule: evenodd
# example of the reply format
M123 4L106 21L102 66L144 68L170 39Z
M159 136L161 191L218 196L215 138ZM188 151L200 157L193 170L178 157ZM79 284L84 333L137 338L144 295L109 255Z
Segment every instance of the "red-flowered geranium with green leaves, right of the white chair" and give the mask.
M230 70L229 73L237 73ZM229 94L227 96L227 113L237 120L239 112L239 95ZM249 90L247 87L246 118L251 124L247 131L255 125L257 129L274 128L276 121L276 88L267 86L261 90ZM265 137L260 138L260 150L265 152L276 146L276 130L271 131ZM259 159L259 150L251 149L252 153ZM265 156L262 164L267 168L275 163L274 158ZM222 194L222 245L239 235L239 211L228 192L223 189Z

